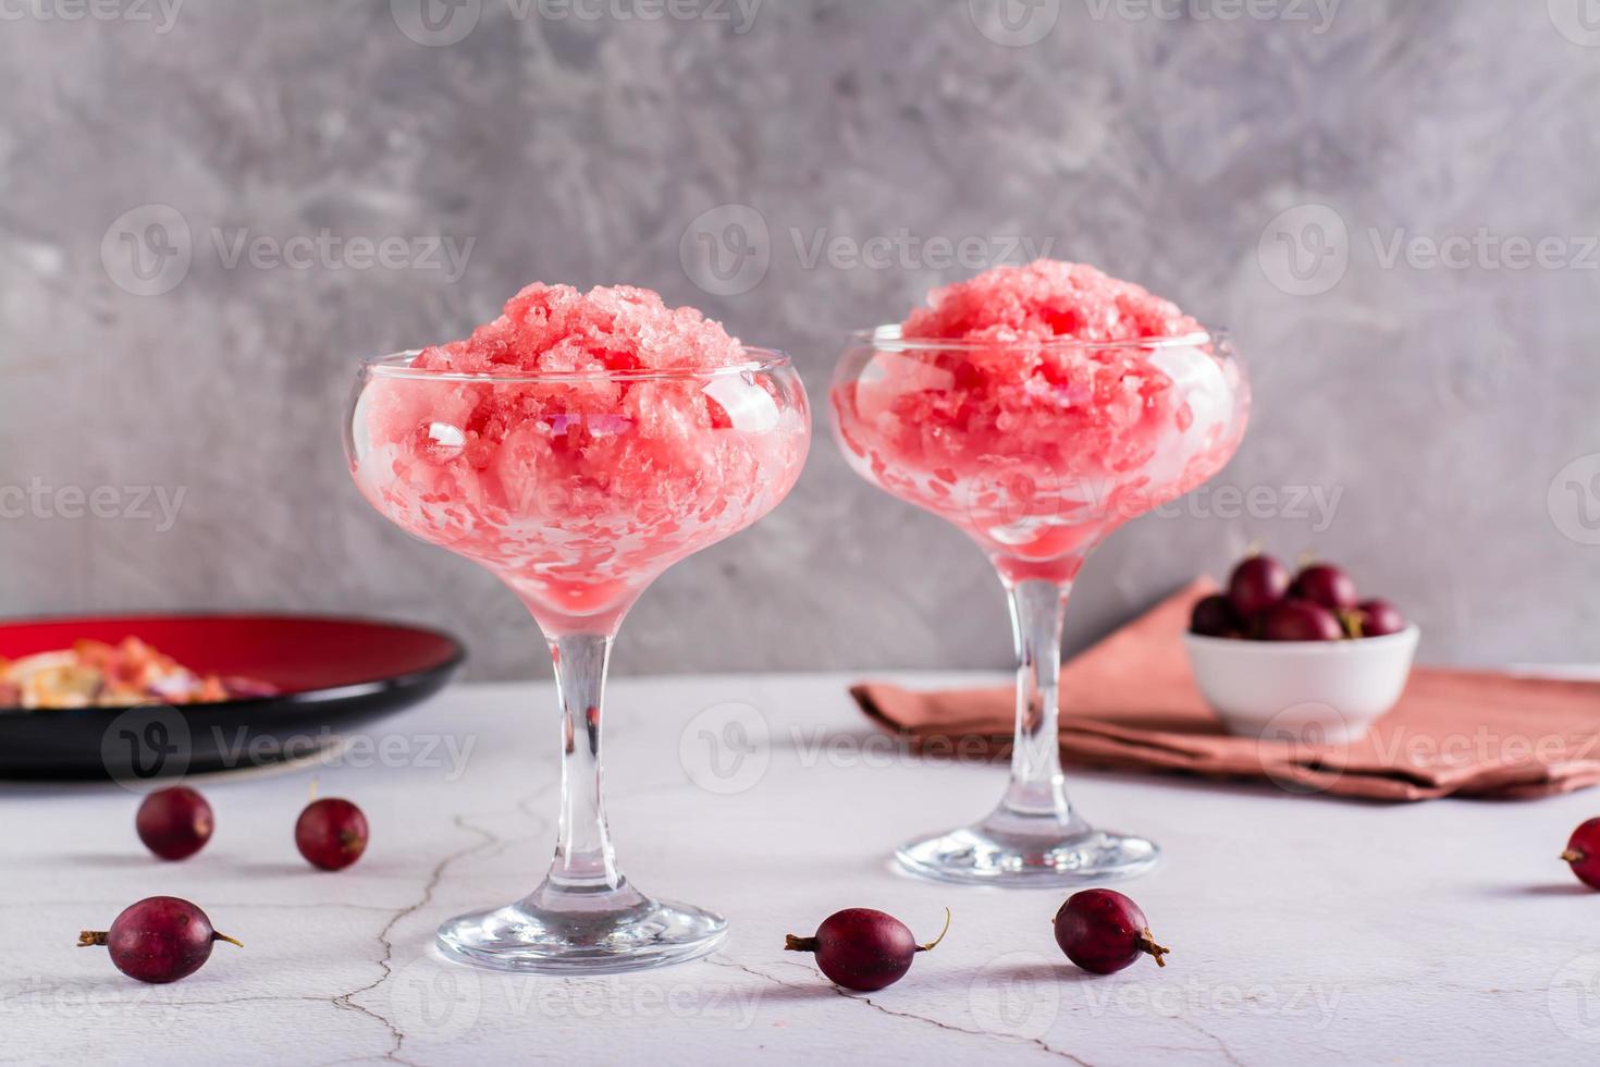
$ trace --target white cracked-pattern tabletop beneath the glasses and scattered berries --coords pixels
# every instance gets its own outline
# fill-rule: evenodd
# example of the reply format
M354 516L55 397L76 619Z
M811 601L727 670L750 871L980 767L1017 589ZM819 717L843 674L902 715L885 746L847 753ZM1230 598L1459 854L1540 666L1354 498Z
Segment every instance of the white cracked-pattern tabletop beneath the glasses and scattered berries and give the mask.
M1600 1057L1600 894L1557 859L1573 825L1600 814L1600 793L1374 806L1072 774L1090 817L1165 848L1155 873L1120 888L1173 949L1170 966L1093 977L1051 939L1064 893L941 886L890 869L896 841L986 811L1003 769L867 742L877 734L848 681L613 681L606 781L622 867L646 891L731 923L715 957L624 977L507 977L430 950L440 920L504 904L544 873L550 685L453 688L373 726L379 755L352 750L317 768L323 795L350 797L373 822L371 849L342 873L314 872L294 851L309 771L198 779L218 835L181 864L144 853L136 800L117 785L0 785L0 1062ZM723 750L723 777L709 776L702 729L738 741L730 721L757 750L738 766ZM245 949L218 945L194 977L150 987L75 947L78 929L150 894L195 901ZM870 997L781 952L786 933L842 907L888 910L931 937L944 905L955 912L946 942Z

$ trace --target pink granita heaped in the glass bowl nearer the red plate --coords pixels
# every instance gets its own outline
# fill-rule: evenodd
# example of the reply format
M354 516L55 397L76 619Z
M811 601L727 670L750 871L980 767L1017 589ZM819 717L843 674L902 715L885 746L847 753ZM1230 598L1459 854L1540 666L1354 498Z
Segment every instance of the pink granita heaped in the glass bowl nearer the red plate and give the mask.
M779 362L648 290L534 283L466 341L373 368L355 480L547 632L605 630L794 486L810 421Z

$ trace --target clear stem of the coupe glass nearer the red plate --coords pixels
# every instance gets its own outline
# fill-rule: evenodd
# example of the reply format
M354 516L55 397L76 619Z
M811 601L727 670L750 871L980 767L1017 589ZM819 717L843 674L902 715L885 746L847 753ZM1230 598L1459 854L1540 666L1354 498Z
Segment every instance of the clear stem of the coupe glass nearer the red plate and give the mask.
M611 661L610 633L550 641L562 697L562 816L555 862L542 891L610 893L622 886L600 792L600 709Z

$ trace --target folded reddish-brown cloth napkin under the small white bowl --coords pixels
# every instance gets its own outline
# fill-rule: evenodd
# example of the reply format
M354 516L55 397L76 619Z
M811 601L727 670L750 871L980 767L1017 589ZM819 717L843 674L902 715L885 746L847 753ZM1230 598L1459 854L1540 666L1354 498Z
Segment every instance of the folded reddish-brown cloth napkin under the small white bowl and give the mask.
M1267 779L1296 793L1370 800L1523 798L1600 784L1600 683L1416 667L1400 704L1358 742L1312 747L1224 733L1200 699L1182 633L1197 581L1061 670L1069 763ZM851 694L925 752L1010 749L1008 688Z

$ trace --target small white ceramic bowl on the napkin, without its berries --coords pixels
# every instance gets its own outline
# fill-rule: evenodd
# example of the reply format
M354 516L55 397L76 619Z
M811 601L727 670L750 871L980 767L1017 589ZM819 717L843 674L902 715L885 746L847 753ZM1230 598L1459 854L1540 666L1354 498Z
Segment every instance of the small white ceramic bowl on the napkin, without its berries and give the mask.
M1400 699L1421 635L1416 625L1355 641L1186 633L1184 645L1200 694L1229 733L1347 744Z

